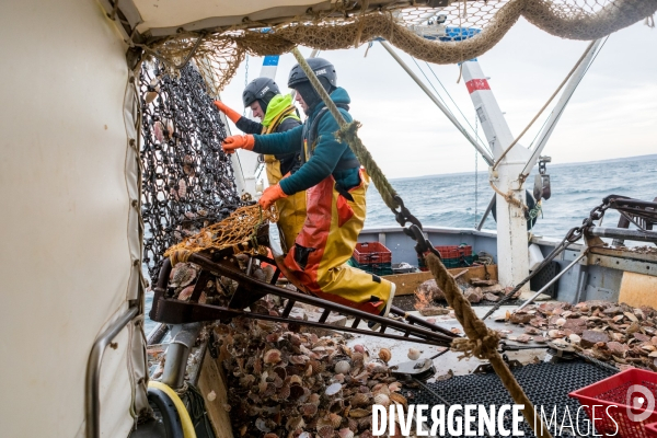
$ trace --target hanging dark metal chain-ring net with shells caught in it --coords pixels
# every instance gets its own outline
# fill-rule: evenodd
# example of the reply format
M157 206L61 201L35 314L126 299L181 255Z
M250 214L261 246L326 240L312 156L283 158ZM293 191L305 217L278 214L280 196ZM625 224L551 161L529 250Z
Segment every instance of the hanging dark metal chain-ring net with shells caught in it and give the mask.
M141 216L143 263L157 278L168 247L241 206L230 158L221 150L226 127L188 64L170 76L145 64L141 91Z

